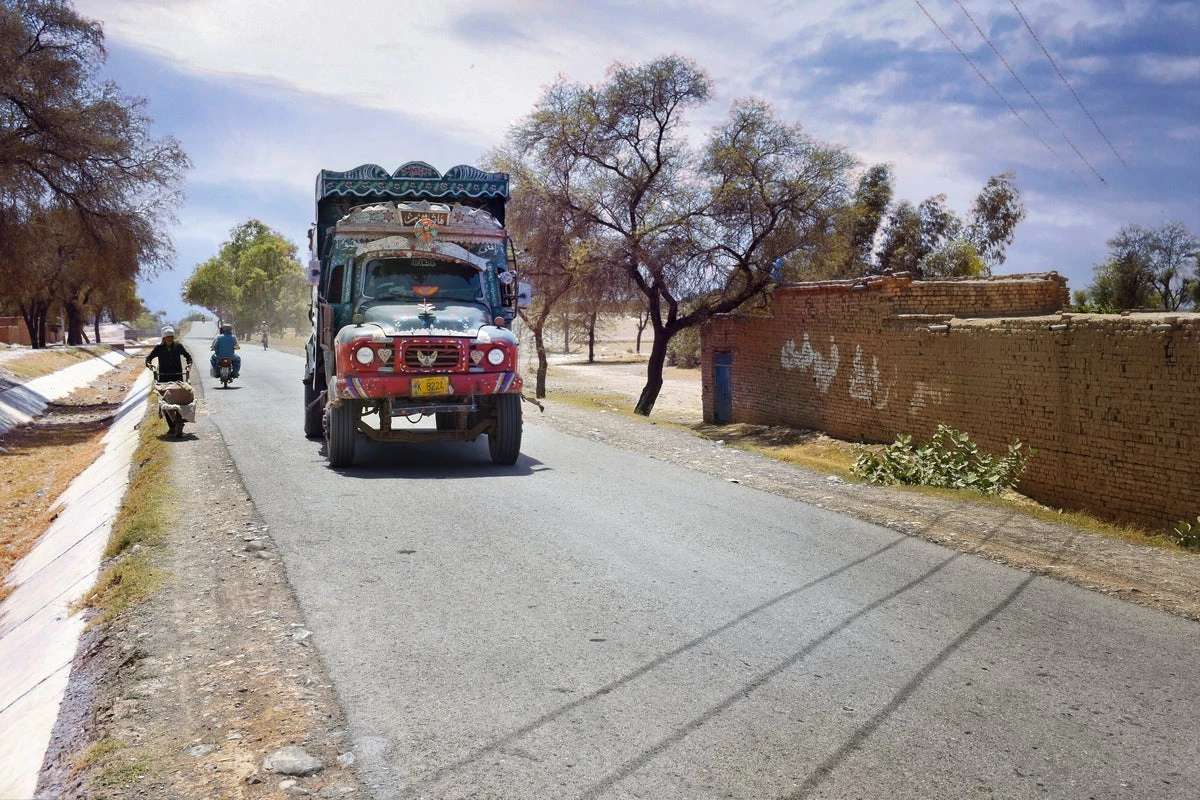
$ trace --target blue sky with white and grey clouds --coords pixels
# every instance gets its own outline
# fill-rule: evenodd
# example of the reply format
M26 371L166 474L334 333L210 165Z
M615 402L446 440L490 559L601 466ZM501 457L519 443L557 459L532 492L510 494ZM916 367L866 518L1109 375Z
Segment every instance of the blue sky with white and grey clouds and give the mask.
M814 139L887 162L895 199L966 216L1013 170L1027 209L998 275L1086 288L1127 224L1200 235L1198 0L74 0L100 77L143 97L192 160L173 270L143 281L176 320L236 225L306 231L322 169L478 164L564 78L678 54L712 101L760 97ZM980 34L982 31L982 34Z

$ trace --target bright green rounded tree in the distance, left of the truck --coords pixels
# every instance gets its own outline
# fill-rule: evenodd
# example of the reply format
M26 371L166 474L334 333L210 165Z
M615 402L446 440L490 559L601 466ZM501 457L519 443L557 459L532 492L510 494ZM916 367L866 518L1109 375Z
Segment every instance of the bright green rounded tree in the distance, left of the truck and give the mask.
M208 308L246 338L265 320L271 327L307 319L308 289L296 247L258 219L229 231L221 251L197 265L182 299Z

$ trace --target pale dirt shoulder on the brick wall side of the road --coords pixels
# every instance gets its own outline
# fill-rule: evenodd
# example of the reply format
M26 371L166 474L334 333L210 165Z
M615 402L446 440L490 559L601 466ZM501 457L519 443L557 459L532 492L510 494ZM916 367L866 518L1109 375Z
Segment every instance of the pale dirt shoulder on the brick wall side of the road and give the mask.
M719 444L721 428L703 426L695 371L667 371L648 420L584 410L556 402L556 391L607 392L632 408L644 384L644 366L552 366L546 411L526 405L534 423L587 435L650 458L695 469L919 536L994 561L1200 620L1200 555L1170 551L1048 522L1012 507L968 499L943 499L838 477ZM664 422L659 425L658 421ZM697 435L703 428L704 435Z

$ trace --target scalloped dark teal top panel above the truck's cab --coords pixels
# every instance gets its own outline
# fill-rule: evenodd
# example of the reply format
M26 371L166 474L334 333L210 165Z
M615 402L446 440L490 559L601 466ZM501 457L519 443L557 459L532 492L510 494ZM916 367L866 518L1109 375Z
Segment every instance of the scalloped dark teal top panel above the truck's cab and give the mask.
M410 161L394 173L379 164L347 172L323 169L317 174L317 253L326 252L330 227L354 206L389 200L454 201L484 209L503 225L508 198L508 173L487 173L467 164L451 167L445 174L424 161Z

